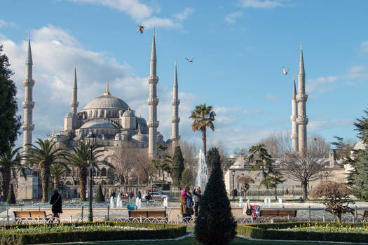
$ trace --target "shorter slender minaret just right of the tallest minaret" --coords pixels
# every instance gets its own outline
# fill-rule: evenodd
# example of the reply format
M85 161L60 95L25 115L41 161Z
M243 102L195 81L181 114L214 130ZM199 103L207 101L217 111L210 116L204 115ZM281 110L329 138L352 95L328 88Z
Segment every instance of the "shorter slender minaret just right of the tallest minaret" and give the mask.
M175 73L174 73L174 85L172 86L172 134L171 134L171 140L172 140L172 150L175 151L175 147L179 144L179 104L180 99L178 99L177 96L177 62L175 60Z

